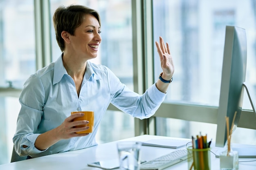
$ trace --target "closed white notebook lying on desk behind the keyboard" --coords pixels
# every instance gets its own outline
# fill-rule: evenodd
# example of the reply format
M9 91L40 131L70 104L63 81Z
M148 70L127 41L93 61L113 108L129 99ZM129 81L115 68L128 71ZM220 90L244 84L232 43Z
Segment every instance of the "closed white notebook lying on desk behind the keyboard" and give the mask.
M182 146L186 146L187 143L191 142L191 139L150 139L148 141L142 142L143 146L155 146L163 148L173 148L177 149Z

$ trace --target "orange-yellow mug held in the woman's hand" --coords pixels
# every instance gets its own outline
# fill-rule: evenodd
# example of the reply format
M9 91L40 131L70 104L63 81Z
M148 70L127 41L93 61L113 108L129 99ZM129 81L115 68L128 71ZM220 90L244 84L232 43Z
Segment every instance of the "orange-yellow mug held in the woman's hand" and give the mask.
M71 112L71 115L73 115L75 113L84 113L84 115L83 115L83 117L76 117L74 119L74 121L77 121L77 120L88 120L89 121L89 124L87 124L87 125L76 126L76 128L89 126L89 129L81 131L81 132L76 132L76 133L91 133L93 130L93 125L94 125L94 111L76 111L76 112Z

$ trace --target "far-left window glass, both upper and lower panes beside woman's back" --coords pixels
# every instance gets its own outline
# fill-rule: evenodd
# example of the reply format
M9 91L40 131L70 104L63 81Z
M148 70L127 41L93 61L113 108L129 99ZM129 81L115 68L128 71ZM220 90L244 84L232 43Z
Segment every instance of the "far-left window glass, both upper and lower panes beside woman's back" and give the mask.
M20 104L5 89L21 89L36 71L33 0L0 1L0 164L9 163Z

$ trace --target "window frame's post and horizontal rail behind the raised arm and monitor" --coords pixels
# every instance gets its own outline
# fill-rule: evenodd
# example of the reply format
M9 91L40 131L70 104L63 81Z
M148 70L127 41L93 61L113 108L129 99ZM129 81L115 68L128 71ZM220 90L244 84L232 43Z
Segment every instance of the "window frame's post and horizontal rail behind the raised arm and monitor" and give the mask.
M155 44L153 41L153 0L132 0L132 15L136 15L137 13L134 13L134 10L141 10L140 17L132 18L132 23L143 23L144 25L141 25L139 28L136 26L133 26L133 32L139 32L144 38L144 55L137 55L136 60L139 60L138 58L141 56L141 58L144 59L144 65L137 68L137 70L134 71L134 73L137 73L139 69L144 68L144 81L146 82L146 88L148 88L151 84L153 84L153 72L154 72L154 65L153 65L153 50L155 50ZM135 9L133 9L135 8ZM141 22L141 18L143 18L144 22ZM137 20L134 21L134 20ZM141 30L140 28L144 28L144 30ZM140 32L141 31L141 32ZM138 36L134 36L138 38ZM136 41L136 40L133 40ZM137 46L137 48L134 48L134 53L136 54L136 49L139 49L140 46ZM151 51L152 50L152 51ZM138 53L138 52L137 52ZM143 54L143 53L141 53ZM135 56L134 56L135 57ZM150 63L151 62L151 63ZM136 67L135 67L136 68ZM141 72L142 73L142 72ZM134 77L137 75L134 75ZM140 85L139 83L135 85ZM143 89L143 91L146 91L146 88ZM134 89L137 89L136 87ZM191 116L193 115L193 116ZM135 135L141 135L141 133L138 133L138 129L141 127L144 127L143 130L144 134L148 135L156 135L156 117L165 117L165 118L174 118L174 119L182 119L187 121L197 121L197 122L203 122L203 123L211 123L211 124L217 124L217 118L218 118L218 107L214 106L200 106L200 105L189 105L189 104L178 104L178 103L172 103L172 102L163 102L159 109L156 111L155 115L153 117L150 117L147 119L147 121L137 121L135 124ZM240 120L238 122L238 127L240 128L250 128L250 129L256 129L255 124L256 115L252 110L242 110L240 115ZM135 118L136 120L136 118Z

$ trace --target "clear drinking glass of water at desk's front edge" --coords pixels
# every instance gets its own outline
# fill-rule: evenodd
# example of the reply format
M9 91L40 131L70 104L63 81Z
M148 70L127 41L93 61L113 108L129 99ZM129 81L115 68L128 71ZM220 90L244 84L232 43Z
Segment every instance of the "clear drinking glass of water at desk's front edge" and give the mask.
M117 150L121 170L139 170L141 142L119 141Z

